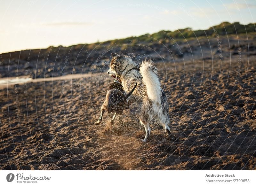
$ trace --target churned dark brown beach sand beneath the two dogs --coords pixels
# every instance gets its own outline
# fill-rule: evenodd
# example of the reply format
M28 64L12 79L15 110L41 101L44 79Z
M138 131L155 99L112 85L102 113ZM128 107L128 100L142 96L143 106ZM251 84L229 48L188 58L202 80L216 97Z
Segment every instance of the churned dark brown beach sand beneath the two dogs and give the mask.
M152 121L141 142L136 104L121 124L105 114L94 125L113 81L106 73L27 82L0 90L0 169L255 170L255 57L156 65L171 138Z

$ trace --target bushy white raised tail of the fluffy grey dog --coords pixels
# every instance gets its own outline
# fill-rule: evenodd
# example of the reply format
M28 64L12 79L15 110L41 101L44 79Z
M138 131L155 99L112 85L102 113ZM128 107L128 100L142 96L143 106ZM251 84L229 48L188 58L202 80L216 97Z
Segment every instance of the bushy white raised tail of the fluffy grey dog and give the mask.
M161 101L162 89L157 75L157 69L151 61L143 61L140 66L142 81L145 83L148 98L151 101Z

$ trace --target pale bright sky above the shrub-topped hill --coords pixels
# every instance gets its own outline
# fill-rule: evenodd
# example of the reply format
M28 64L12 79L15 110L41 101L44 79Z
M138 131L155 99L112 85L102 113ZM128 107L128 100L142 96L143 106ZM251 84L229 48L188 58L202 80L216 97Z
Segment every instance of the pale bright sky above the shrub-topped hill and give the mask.
M0 0L0 53L256 22L255 0Z

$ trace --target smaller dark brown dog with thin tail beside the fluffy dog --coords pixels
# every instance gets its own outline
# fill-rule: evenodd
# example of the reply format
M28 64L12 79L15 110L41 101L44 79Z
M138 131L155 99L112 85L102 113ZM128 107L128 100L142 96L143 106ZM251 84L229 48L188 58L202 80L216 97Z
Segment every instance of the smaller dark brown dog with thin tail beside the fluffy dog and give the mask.
M121 114L123 113L123 110L128 109L131 105L131 103L127 102L126 99L131 96L136 86L137 83L135 84L133 89L127 95L125 95L122 84L119 81L115 80L108 88L106 99L100 108L100 118L94 124L100 124L102 120L102 115L105 111L108 111L108 113L114 113L113 118L110 120L111 123L115 119L116 115L119 115L120 123L122 121Z

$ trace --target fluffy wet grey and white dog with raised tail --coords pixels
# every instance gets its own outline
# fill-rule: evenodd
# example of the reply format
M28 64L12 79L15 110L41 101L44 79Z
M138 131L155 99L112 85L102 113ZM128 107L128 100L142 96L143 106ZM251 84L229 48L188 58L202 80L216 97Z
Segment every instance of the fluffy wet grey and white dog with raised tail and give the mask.
M167 136L171 134L168 102L158 79L157 69L150 60L143 61L139 66L126 55L111 53L108 74L120 78L124 91L130 92L137 83L132 96L140 104L140 123L145 127L144 142L150 135L149 122L156 118L164 127Z

